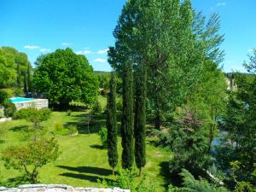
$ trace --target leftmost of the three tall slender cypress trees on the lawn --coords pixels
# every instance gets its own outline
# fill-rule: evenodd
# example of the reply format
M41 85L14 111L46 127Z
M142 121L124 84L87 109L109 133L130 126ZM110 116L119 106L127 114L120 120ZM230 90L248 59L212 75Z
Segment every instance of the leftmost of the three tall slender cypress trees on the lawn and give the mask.
M108 128L108 164L114 167L118 163L118 148L117 148L117 122L116 122L116 79L115 74L111 73L109 82L110 92L108 94L107 106L107 128Z

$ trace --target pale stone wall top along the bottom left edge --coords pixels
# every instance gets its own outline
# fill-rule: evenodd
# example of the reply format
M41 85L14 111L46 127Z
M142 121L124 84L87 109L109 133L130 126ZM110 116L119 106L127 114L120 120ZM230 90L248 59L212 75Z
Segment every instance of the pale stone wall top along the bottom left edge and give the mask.
M18 188L0 187L1 192L131 192L128 189L73 188L61 184L24 184Z

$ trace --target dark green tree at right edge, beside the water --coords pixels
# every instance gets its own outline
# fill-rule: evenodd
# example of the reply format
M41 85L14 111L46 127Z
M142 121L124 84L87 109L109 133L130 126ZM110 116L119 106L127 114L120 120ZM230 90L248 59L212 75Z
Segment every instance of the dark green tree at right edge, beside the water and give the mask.
M224 171L229 169L231 161L239 161L241 168L236 170L236 180L253 184L252 172L256 162L255 82L254 76L236 74L237 90L230 93L221 126L221 131L227 134L222 137L217 156L218 166Z

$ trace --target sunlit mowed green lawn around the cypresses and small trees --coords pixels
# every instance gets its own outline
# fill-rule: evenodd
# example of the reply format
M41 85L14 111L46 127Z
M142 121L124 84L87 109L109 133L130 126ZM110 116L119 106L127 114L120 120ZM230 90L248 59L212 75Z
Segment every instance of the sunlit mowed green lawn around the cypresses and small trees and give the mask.
M104 97L100 98L104 104ZM55 123L63 125L77 125L79 135L74 137L56 137L60 144L61 155L55 162L44 166L39 171L40 183L68 184L77 187L102 187L97 180L102 178L114 179L111 167L108 166L108 154L102 149L98 131L101 125L105 125L103 114L96 115L94 124L90 125L90 133L87 131L86 113L73 112L67 116L65 112L54 112L51 118L42 125L50 132L54 131ZM31 125L25 120L13 120L0 124L0 153L10 145L25 143L22 132L26 126ZM121 160L121 138L119 137L119 166ZM170 159L170 152L163 148L156 148L147 139L147 165L143 169L151 183L164 191L166 183L167 162ZM0 179L8 180L19 177L23 172L13 169L7 170L0 160Z

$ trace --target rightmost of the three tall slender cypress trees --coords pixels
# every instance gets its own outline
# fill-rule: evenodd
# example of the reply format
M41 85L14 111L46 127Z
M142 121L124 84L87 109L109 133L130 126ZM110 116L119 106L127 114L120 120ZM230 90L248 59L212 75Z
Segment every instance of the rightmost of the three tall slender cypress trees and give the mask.
M135 104L135 160L139 175L141 176L142 168L146 165L146 143L145 143L145 127L146 127L146 69L139 67L137 70L136 83L136 104Z

